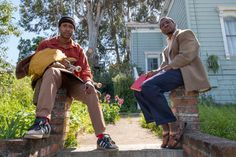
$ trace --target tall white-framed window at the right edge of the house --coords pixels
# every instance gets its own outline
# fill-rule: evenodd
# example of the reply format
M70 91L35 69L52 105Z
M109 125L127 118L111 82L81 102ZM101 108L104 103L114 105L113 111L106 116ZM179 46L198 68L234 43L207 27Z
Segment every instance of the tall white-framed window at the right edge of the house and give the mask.
M225 55L227 59L236 57L236 6L218 7L222 35L224 40Z

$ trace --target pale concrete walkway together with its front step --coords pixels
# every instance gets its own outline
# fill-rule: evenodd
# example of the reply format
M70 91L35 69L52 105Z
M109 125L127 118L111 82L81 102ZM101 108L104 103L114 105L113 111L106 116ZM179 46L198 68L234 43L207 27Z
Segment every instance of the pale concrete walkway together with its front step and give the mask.
M161 139L139 124L140 116L122 116L114 125L107 126L107 133L119 146L119 151L96 149L94 134L78 137L77 149L66 149L57 157L183 157L183 150L161 149Z

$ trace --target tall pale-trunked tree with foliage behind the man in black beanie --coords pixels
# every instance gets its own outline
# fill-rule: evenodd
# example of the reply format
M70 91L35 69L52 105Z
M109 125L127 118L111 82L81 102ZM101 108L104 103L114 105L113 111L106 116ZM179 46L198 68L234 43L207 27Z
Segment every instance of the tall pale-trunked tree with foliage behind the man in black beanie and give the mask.
M77 30L80 30L78 33L81 35L80 40L88 37L88 56L92 57L97 47L104 5L103 0L21 0L20 25L31 32L39 33L42 30L55 32L57 21L61 16L74 16L76 21L81 23L77 26Z

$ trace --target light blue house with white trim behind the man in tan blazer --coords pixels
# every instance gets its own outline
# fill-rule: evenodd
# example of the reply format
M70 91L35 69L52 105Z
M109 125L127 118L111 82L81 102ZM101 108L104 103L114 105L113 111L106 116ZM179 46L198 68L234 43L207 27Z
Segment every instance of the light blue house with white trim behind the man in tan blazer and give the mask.
M236 103L236 1L166 0L160 16L169 16L178 28L196 34L212 86L206 95L218 103ZM143 72L158 68L166 46L159 25L128 23L127 27L131 29L132 64ZM212 56L216 58L213 61ZM212 68L209 60L219 68Z

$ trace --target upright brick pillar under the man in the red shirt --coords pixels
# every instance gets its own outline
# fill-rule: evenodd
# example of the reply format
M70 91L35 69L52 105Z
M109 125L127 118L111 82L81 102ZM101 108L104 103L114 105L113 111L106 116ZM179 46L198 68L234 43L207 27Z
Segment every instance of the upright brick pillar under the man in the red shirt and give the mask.
M69 132L70 105L72 99L68 98L65 89L59 89L52 110L50 125L52 135L59 135L60 145L63 146L66 134Z

